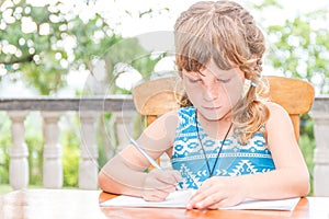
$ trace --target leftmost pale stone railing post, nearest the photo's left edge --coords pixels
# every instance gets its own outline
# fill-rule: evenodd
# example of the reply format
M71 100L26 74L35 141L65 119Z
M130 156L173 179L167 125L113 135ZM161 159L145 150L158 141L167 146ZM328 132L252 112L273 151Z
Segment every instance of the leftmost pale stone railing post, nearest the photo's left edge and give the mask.
M9 182L13 189L24 188L29 185L29 150L25 143L24 120L27 112L11 111L12 147L10 148Z

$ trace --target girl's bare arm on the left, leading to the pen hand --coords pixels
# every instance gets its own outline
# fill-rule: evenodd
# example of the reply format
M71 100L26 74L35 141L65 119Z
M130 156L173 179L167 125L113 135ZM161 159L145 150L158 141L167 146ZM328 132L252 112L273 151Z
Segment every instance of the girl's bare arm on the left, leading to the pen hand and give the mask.
M170 112L154 122L136 140L149 155L158 159L172 147L177 127L177 112ZM150 165L149 161L132 145L110 160L99 174L101 189L133 196L143 196L145 183L149 176L145 170ZM155 173L152 173L155 175ZM157 173L158 175L160 173ZM177 173L162 174L161 182L174 184ZM167 178L166 178L167 177ZM156 185L155 185L156 186ZM167 192L167 189L163 189Z

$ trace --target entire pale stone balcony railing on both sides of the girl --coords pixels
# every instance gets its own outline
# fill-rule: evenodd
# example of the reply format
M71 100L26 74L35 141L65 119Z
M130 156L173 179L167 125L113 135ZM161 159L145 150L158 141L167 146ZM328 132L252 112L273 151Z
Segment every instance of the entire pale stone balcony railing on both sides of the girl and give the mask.
M60 132L58 120L63 112L79 113L81 124L81 147L79 164L79 187L98 187L98 147L95 141L95 120L101 112L112 112L116 119L118 150L127 145L124 129L132 120L135 106L131 95L83 99L2 99L0 111L8 112L11 119L12 146L10 148L10 184L13 189L29 185L27 146L24 141L24 120L32 111L41 112L44 131L44 171L43 182L47 188L63 186L61 147L58 143ZM316 196L329 196L329 96L316 97L311 108L315 122L316 149L314 153L314 193ZM124 123L125 122L125 123Z

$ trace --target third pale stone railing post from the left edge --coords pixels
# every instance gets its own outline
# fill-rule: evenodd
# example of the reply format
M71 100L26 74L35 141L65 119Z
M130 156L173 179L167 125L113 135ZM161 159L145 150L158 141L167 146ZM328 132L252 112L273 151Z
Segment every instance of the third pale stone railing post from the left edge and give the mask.
M95 122L99 113L80 112L81 122L81 162L79 164L79 187L82 189L98 188L98 146Z

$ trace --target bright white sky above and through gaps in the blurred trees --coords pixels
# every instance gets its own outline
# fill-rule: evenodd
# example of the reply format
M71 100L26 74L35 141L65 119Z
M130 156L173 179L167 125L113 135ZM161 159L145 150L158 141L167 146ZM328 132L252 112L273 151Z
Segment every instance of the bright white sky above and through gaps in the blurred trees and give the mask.
M33 4L45 4L52 3L54 0L29 0ZM93 11L98 11L107 18L109 22L116 26L116 32L123 36L140 37L147 36L149 33L160 33L167 32L171 33L173 30L174 22L180 13L186 10L191 4L198 0L97 0L94 1ZM305 13L308 11L314 11L317 9L328 9L329 1L326 0L277 0L280 4L283 5L281 10L269 9L269 11L253 10L250 7L251 0L236 0L246 7L251 14L254 16L257 23L260 26L266 26L269 24L282 24L285 19L292 19L298 13ZM252 3L257 3L261 0L252 0ZM92 15L90 8L83 7L82 0L70 0L64 1L69 10L70 4L78 3L81 7L77 10L81 18L89 19ZM92 2L92 1L90 1ZM163 10L168 8L169 10ZM149 14L138 18L139 12L145 12L149 9L154 10L152 16ZM128 13L127 13L128 12ZM320 24L322 25L322 24ZM325 24L326 26L329 26ZM159 39L168 41L168 37L160 36ZM169 41L170 42L170 41ZM143 41L141 41L143 43ZM149 45L149 41L146 37L146 43ZM161 42L163 44L163 41ZM158 64L156 71L170 70L173 67L173 60L168 58ZM89 72L71 72L68 77L67 90L61 91L58 95L67 96L73 95L76 89L83 89L84 82L87 80ZM138 74L138 73L137 73ZM122 76L118 81L121 87L129 88L132 83L139 80L136 72L127 72L126 76ZM129 81L129 79L133 79ZM5 82L5 79L3 79ZM2 84L3 84L2 82ZM25 90L22 81L18 81L16 84L2 85L0 89L5 92L1 92L0 96L16 95L18 89ZM19 92L25 93L25 95L34 95L33 92Z

